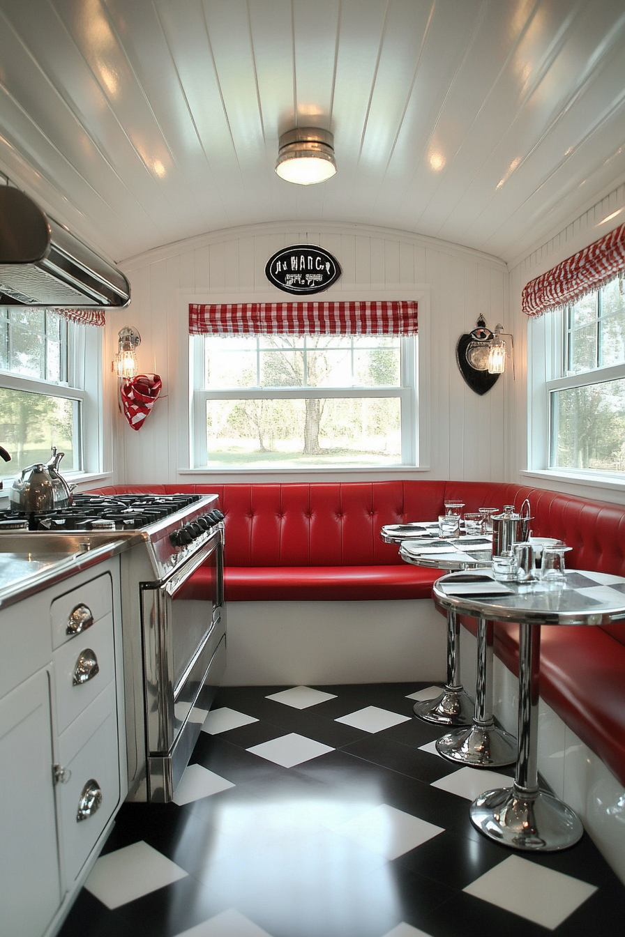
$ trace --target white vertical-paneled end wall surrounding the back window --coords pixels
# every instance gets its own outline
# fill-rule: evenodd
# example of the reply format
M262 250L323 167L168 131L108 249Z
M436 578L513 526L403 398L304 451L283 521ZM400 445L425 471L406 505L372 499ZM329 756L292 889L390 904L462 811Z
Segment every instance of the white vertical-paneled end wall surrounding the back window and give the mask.
M188 458L188 303L194 298L205 302L211 294L220 301L225 296L233 302L254 297L266 301L274 294L276 301L286 300L286 293L273 290L266 281L264 265L279 247L298 242L320 244L339 260L344 273L323 294L328 299L341 294L351 298L358 290L370 294L372 284L382 299L385 290L414 294L415 285L425 286L428 299L422 310L429 305L431 322L430 360L424 368L429 370L431 406L426 474L502 479L503 394L496 403L469 391L455 364L455 343L474 326L479 311L491 326L499 320L507 324L501 313L507 277L503 264L406 232L361 225L306 228L275 223L158 248L126 265L133 305L124 318L141 332L140 368L156 368L168 396L159 400L139 432L126 421L117 421L118 465L124 467L120 472L124 478L118 480L189 481L178 474ZM490 395L498 390L499 385ZM465 430L474 424L480 426L479 446L475 434ZM419 477L424 477L423 471Z

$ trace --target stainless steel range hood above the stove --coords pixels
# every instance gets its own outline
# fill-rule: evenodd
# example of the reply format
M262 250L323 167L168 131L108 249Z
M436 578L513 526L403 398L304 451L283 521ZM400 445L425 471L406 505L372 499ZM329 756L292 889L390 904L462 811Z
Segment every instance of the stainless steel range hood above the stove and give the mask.
M0 186L0 305L124 308L129 302L125 275L20 189Z

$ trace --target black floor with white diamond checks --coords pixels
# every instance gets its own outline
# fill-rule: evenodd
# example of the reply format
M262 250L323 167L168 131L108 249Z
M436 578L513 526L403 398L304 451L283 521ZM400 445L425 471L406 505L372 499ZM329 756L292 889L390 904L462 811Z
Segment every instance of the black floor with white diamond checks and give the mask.
M423 684L224 688L167 805L126 804L62 937L582 937L623 932L591 840L521 855L439 757ZM201 714L200 718L201 717Z

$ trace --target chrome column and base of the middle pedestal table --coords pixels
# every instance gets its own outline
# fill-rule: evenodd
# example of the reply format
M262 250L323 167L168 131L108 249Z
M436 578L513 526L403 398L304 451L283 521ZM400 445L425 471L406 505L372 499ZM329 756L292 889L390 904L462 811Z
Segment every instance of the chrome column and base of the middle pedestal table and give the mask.
M449 614L449 613L448 613ZM473 767L502 767L516 760L516 739L493 719L493 622L478 619L475 713L468 729L454 729L436 743L443 758Z

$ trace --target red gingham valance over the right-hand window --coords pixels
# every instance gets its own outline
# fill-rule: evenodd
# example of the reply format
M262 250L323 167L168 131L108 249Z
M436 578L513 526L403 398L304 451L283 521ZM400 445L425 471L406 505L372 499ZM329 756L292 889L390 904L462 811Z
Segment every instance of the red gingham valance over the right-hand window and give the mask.
M599 290L625 270L625 225L577 251L568 260L530 280L523 290L523 311L528 316L561 309Z

